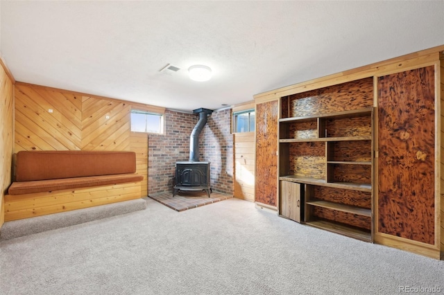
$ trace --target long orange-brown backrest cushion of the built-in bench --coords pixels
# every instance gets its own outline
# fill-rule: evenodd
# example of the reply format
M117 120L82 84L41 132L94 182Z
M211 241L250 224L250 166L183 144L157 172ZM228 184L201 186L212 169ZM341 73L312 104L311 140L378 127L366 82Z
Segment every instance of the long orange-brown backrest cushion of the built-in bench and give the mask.
M136 172L135 152L20 151L16 181Z

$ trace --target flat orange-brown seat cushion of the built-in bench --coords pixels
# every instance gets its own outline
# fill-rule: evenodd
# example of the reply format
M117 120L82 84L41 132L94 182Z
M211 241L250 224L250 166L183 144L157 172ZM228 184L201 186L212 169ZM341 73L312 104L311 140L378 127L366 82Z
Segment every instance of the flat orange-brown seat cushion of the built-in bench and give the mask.
M91 177L74 177L66 179L50 179L39 181L16 181L8 189L9 195L23 195L31 193L51 192L53 190L67 190L71 188L85 188L89 186L106 186L123 184L126 182L142 181L144 177L135 173L121 175L103 175Z

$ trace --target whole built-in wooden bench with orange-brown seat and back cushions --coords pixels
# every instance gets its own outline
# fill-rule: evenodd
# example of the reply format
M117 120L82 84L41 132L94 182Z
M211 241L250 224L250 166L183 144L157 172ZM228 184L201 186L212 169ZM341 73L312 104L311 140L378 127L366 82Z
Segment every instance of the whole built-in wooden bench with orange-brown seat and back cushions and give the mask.
M21 151L5 221L141 198L134 152Z

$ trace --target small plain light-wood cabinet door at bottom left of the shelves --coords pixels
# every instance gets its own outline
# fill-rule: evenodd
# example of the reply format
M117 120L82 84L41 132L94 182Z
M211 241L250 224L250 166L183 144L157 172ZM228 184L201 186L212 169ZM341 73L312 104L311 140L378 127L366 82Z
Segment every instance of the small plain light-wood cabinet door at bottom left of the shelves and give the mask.
M280 181L280 215L296 222L302 220L303 187L296 182Z

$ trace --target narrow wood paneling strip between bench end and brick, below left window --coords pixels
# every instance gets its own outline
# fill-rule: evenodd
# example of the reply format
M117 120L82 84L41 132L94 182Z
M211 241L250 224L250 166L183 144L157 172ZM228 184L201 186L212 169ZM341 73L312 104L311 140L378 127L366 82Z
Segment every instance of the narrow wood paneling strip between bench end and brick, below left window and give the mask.
M131 132L130 150L136 153L136 172L144 176L141 181L142 197L148 195L148 134Z

